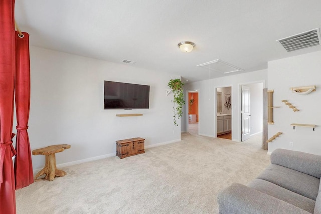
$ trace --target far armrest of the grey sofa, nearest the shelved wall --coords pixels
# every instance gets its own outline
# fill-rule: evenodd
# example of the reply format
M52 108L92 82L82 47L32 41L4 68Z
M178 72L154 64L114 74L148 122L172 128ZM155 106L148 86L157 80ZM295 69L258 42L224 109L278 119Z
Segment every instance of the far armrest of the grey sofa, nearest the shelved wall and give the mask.
M321 177L321 156L286 149L275 149L271 154L271 163L296 171Z

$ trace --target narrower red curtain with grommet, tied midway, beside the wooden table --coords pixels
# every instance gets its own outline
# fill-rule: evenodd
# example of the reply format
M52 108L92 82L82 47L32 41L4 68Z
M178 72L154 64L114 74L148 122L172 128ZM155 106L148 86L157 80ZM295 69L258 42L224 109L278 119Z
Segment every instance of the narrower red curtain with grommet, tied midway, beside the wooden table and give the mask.
M30 109L29 34L22 32L19 37L17 31L15 101L17 115L15 178L16 189L20 189L32 184L34 176L27 132Z

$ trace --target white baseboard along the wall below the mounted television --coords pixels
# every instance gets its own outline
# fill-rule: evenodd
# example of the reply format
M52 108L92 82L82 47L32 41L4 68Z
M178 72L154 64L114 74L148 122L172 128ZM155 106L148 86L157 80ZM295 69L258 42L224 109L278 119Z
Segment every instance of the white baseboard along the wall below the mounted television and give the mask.
M181 141L181 139L171 140L171 141L167 141L167 142L163 142L163 143L156 143L156 144L153 144L153 145L145 146L145 148L152 148L152 147L156 147L156 146L162 146L162 145L165 145L165 144L175 143L175 142L179 142L179 141ZM76 160L76 161L72 161L72 162L68 162L68 163L58 164L57 168L63 168L63 167L67 167L67 166L72 166L72 165L76 165L76 164L80 164L80 163L86 163L86 162L90 162L90 161L94 161L94 160L100 160L100 159L104 159L104 158L107 158L107 157L114 157L114 156L116 156L116 152L115 153L110 153L110 154L105 154L105 155L100 155L100 156L96 156L96 157L90 157L90 158L86 158L86 159L82 159L82 160ZM36 174L41 169L42 168L34 169L33 173Z

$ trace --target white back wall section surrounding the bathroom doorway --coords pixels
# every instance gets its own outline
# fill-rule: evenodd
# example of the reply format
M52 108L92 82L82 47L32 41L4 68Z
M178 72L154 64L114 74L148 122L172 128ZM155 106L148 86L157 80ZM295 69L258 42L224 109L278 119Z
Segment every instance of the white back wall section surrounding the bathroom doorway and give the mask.
M186 84L184 87L186 91L199 90L200 135L216 136L216 88L232 86L232 140L241 141L241 85L258 82L262 82L265 86L266 69ZM182 123L182 126L186 124ZM182 129L186 130L186 127Z

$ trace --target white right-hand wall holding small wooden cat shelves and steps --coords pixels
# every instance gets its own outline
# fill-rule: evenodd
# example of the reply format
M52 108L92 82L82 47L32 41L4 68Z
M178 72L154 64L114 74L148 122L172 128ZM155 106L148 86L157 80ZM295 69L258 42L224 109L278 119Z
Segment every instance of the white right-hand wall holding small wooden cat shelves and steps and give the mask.
M276 148L303 151L321 155L321 51L268 62L268 89L274 89L274 125L268 125L268 137L283 132L269 143L268 151ZM316 91L297 95L290 87L316 85ZM288 100L300 111L294 112L281 102ZM312 128L293 127L291 123L316 124ZM293 142L293 147L289 146Z

